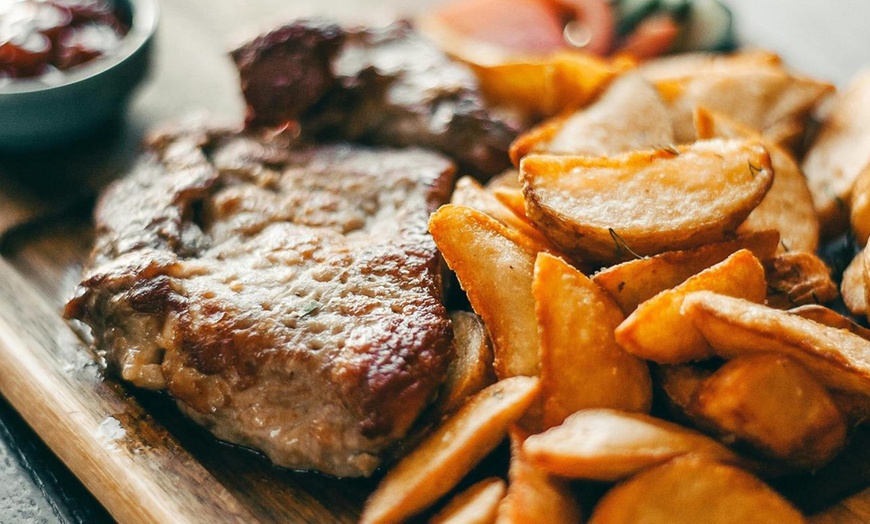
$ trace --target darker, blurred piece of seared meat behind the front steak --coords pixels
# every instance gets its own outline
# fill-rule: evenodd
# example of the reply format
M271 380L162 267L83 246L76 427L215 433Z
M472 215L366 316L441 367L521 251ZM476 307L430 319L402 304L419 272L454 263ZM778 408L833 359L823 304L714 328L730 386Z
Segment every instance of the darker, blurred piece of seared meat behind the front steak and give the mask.
M482 178L510 165L520 123L487 108L472 71L408 23L343 29L302 20L233 57L249 126L293 122L315 140L428 147Z

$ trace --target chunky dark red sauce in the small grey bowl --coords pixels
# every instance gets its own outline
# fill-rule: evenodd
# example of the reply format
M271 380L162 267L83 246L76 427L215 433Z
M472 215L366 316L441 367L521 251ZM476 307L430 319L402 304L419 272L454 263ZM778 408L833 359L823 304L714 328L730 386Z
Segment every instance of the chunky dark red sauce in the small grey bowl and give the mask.
M109 0L0 0L0 80L48 77L112 53L127 29Z

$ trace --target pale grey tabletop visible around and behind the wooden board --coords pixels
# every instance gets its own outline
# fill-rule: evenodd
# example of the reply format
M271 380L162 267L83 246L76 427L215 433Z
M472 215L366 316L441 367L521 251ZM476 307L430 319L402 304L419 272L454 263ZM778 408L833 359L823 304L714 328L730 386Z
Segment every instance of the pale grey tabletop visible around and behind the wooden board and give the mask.
M242 103L223 54L257 31L297 16L387 18L434 5L433 0L166 0L154 75L121 132L135 141L144 129L179 114L206 110L238 119ZM870 0L731 0L746 42L780 52L795 69L844 85L870 67ZM179 88L179 86L183 86ZM172 96L167 96L172 93ZM0 399L0 523L110 520L17 414Z

